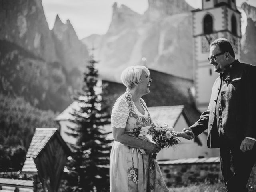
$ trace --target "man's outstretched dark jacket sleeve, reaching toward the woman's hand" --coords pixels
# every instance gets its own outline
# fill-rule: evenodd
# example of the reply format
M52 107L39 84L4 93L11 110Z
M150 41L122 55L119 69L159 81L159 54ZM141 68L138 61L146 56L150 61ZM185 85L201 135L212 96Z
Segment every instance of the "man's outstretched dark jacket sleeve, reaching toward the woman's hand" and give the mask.
M208 107L208 109L201 114L199 120L190 126L195 136L198 136L208 128L209 112L210 108Z

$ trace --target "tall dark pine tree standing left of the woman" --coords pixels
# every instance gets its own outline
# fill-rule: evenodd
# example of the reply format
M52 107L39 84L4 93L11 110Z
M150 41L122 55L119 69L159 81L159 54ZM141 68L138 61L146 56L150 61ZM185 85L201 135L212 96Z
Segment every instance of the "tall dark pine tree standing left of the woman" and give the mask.
M84 84L82 90L76 95L76 102L80 110L74 111L72 115L76 124L71 128L72 134L77 139L72 160L68 164L70 171L77 174L78 182L73 184L74 191L82 192L105 192L109 191L109 156L111 140L106 140L109 134L102 126L110 124L110 114L107 107L103 108L101 93L96 90L98 82L97 63L93 56L84 72ZM102 88L102 87L101 87Z

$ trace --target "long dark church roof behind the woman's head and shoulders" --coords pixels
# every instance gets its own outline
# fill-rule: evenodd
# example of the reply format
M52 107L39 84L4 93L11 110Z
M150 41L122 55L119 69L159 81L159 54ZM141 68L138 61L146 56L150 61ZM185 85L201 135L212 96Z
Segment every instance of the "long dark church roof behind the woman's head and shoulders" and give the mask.
M150 93L142 96L148 107L153 106L174 106L174 105L193 105L194 100L190 94L190 88L193 81L190 79L180 78L174 75L150 70ZM103 80L106 88L102 94L103 98L108 99L110 111L116 99L122 95L126 87L122 83L110 82Z

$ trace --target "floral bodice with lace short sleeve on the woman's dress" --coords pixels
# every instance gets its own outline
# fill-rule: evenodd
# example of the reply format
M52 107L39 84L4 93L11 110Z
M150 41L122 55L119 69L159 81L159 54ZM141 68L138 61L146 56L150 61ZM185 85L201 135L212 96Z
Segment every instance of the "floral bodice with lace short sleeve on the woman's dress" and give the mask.
M138 111L131 98L130 92L126 91L116 100L111 114L112 127L125 128L126 132L132 132L134 128L150 125L151 118L144 100L140 99L145 110L143 115Z

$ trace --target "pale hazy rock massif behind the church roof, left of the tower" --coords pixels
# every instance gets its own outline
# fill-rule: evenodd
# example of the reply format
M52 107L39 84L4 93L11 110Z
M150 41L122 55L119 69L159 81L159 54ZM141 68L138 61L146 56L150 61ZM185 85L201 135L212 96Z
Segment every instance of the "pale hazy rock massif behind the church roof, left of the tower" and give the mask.
M100 75L120 82L124 68L143 64L192 79L191 9L184 0L149 0L148 10L140 15L115 3L108 32L93 39L99 42L95 54ZM90 40L83 42L92 44Z

